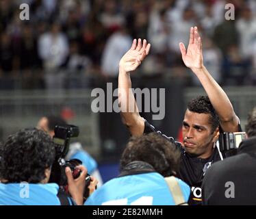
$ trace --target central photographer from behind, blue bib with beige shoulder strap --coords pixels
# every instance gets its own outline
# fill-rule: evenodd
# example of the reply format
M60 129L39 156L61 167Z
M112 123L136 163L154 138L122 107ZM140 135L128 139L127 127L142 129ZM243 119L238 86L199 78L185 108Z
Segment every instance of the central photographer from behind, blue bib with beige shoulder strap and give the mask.
M176 147L159 134L133 137L123 152L119 177L94 192L85 205L185 204L190 187L180 179L170 177L175 176L178 161ZM179 196L173 190L175 194L179 192Z

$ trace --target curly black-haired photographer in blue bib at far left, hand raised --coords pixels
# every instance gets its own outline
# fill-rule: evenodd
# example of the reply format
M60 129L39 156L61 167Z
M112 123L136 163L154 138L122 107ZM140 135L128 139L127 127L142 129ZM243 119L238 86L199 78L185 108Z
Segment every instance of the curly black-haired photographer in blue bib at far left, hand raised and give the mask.
M1 146L0 205L81 205L87 170L79 166L81 175L73 179L66 168L68 192L60 192L55 183L48 183L55 159L55 146L50 136L38 129L22 129L9 136ZM60 198L62 196L62 200Z

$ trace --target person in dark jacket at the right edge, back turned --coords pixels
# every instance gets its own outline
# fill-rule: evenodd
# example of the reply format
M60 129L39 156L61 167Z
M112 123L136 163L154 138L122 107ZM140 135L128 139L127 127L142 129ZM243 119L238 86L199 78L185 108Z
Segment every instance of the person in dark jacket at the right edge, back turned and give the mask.
M256 108L248 116L248 139L238 155L217 162L203 180L203 205L256 205Z

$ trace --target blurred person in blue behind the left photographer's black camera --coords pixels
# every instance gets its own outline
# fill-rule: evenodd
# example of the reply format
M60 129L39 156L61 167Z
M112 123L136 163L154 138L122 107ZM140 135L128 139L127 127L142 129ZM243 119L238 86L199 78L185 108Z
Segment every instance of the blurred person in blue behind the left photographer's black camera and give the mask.
M54 128L56 125L66 125L66 121L58 116L45 116L39 120L38 129L46 131L49 133L51 138L53 138ZM80 142L70 144L66 159L80 159L82 164L88 170L88 174L92 175L99 181L97 186L99 187L103 184L97 162L83 149Z

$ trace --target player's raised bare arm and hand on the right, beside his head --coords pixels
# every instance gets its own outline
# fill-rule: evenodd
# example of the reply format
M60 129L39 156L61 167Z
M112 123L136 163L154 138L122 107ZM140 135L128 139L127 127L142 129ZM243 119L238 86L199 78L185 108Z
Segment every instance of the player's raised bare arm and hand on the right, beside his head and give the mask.
M186 51L183 43L179 44L181 55L185 66L190 68L196 77L199 78L205 92L214 106L223 131L238 131L238 116L235 115L233 106L224 90L214 80L212 75L203 65L202 41L197 27L190 29L190 42Z

